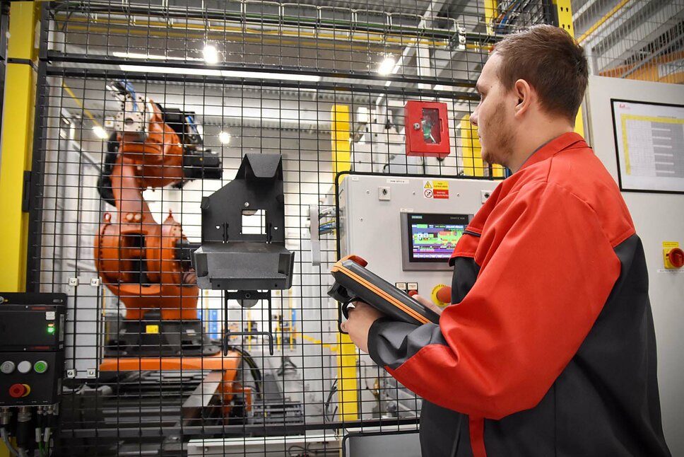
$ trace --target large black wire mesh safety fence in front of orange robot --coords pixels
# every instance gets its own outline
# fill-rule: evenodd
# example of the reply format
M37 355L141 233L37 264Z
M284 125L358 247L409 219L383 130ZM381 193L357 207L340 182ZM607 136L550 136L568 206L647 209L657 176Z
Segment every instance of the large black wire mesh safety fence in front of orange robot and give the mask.
M339 455L350 434L415 432L420 398L348 349L326 295L335 175L503 178L468 122L474 85L493 43L551 11L46 3L28 275L69 295L56 453ZM448 156L406 154L410 100L446 105ZM249 154L282 158L295 258L291 287L257 300L199 289L189 255ZM271 233L240 217L241 236Z

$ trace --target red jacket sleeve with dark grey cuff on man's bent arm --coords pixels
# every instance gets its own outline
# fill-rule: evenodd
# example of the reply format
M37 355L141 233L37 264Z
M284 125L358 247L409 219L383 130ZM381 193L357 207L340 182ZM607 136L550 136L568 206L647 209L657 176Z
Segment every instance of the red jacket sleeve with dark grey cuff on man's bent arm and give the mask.
M543 398L594 325L620 261L588 204L538 183L497 204L476 262L473 288L439 328L382 321L370 350L431 403L499 419Z

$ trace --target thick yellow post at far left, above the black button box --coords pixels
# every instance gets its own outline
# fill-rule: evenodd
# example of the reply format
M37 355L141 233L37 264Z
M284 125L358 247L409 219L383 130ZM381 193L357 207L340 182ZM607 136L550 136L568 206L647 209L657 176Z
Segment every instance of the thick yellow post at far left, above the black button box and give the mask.
M0 163L1 291L20 292L26 287L28 212L23 211L23 192L29 191L24 177L33 156L38 55L35 33L40 18L37 4L13 1L10 7Z

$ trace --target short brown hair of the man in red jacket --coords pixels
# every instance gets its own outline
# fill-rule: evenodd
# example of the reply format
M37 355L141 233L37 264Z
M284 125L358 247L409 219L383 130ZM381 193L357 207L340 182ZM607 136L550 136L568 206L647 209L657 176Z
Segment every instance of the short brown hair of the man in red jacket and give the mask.
M547 112L574 122L589 68L584 49L569 33L553 25L534 25L505 37L494 52L501 57L498 76L507 90L524 79Z

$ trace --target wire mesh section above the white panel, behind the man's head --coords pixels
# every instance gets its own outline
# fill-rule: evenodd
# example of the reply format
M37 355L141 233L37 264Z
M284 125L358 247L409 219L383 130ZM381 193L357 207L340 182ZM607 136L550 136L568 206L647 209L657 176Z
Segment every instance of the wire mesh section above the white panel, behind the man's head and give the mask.
M684 82L682 1L572 1L572 11L592 74Z

